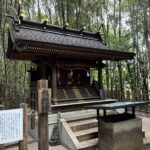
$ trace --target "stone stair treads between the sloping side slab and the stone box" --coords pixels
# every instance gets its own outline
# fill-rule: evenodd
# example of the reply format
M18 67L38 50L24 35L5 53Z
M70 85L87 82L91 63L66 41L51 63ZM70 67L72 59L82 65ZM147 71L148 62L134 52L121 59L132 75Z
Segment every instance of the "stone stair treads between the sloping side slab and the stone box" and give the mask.
M68 122L72 133L78 140L78 150L96 150L98 127L96 118L80 119Z

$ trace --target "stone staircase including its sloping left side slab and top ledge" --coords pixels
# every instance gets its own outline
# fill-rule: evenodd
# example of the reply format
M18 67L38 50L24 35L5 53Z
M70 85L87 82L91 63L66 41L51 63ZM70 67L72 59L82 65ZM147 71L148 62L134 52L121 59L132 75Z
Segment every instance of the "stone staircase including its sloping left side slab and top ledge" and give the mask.
M100 111L100 115L102 115ZM108 111L107 114L111 114ZM113 112L114 113L114 112ZM60 114L61 144L70 150L97 150L98 121L95 110L80 110Z

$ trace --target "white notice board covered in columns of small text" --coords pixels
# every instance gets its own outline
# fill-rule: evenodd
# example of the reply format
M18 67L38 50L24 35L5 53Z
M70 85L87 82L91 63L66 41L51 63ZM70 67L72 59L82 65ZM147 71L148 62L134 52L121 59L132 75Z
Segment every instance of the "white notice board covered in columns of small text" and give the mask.
M0 111L0 144L23 140L23 109Z

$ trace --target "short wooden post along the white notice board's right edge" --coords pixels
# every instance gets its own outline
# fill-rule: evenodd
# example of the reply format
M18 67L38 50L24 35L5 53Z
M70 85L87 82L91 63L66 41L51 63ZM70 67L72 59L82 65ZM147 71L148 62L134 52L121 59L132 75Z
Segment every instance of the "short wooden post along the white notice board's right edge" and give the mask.
M20 104L23 108L23 140L19 142L19 150L28 149L28 107L27 104Z

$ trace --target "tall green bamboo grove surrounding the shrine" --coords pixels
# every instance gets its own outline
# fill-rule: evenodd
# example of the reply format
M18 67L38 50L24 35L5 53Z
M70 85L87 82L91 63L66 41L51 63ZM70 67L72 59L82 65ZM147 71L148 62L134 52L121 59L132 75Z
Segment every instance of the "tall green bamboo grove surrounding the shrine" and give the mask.
M7 15L45 21L86 31L100 31L107 46L136 53L133 61L104 61L105 91L146 93L150 90L149 0L0 0L0 98L27 95L30 62L6 58ZM122 97L121 97L122 99ZM146 97L148 99L148 96Z

